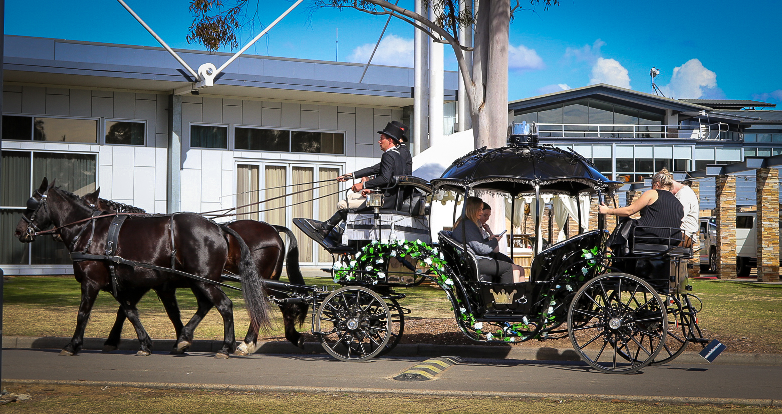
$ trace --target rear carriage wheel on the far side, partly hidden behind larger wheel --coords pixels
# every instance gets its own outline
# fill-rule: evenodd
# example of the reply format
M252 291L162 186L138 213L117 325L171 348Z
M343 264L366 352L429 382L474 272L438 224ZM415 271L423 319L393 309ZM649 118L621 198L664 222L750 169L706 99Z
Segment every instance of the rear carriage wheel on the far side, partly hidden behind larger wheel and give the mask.
M660 353L649 365L663 365L682 355L687 343L703 338L701 329L695 324L695 310L687 294L676 293L673 306L668 308L668 334Z

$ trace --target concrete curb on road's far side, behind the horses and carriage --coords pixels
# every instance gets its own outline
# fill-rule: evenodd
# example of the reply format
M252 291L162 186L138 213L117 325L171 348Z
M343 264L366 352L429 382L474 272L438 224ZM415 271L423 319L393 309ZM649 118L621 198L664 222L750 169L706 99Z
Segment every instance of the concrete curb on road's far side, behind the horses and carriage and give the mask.
M2 347L9 349L62 349L70 340L65 337L3 337ZM86 350L102 350L103 338L84 338ZM155 351L168 351L174 347L174 340L155 340ZM190 351L217 352L223 346L220 340L194 340ZM121 351L138 351L138 340L122 340ZM321 344L307 342L304 349L288 341L261 342L256 353L260 354L323 354ZM399 344L390 356L439 357L454 355L461 358L520 359L525 361L579 361L576 351L554 347L514 347L490 345L436 345ZM708 364L697 352L684 352L674 360L677 364ZM723 352L714 362L716 365L762 365L782 366L780 354L744 354Z

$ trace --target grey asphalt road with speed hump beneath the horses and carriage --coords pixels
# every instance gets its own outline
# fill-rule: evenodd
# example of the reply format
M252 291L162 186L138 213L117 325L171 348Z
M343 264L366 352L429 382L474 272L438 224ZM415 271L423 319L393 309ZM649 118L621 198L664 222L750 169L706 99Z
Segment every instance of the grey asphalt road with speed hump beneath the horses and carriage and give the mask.
M640 373L598 373L580 363L466 359L436 380L401 382L393 377L425 358L382 357L339 362L325 355L251 355L213 358L83 351L59 356L55 350L3 351L3 380L225 384L271 387L339 387L374 390L433 390L594 394L650 398L782 398L782 367L683 365L647 367Z

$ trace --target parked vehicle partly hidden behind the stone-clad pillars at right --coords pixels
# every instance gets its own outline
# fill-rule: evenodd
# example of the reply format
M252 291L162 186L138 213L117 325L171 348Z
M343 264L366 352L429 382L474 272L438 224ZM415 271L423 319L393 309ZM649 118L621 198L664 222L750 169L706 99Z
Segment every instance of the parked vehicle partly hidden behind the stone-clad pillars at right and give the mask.
M758 262L755 212L736 213L736 275L747 277ZM782 232L780 232L782 237ZM701 217L701 272L717 271L717 225L713 217ZM782 257L780 257L782 259ZM782 262L780 262L782 264Z

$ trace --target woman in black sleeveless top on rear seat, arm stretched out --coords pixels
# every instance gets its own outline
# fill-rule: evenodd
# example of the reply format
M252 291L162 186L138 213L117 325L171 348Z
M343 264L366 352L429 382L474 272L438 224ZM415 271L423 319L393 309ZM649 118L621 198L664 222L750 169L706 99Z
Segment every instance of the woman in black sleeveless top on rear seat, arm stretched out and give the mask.
M651 179L651 190L641 194L630 206L609 208L601 203L598 211L619 217L629 217L640 211L640 219L636 223L636 243L677 246L682 238L680 229L684 207L671 193L672 188L673 176L667 171L660 171Z

